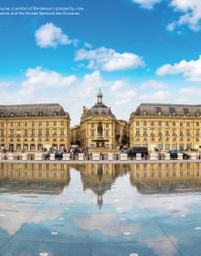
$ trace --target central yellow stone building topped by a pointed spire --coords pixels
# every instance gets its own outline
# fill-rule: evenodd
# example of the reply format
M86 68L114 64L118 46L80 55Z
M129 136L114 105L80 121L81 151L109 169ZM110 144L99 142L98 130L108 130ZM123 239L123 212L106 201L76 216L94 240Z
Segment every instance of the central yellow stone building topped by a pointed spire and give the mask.
M83 107L80 124L70 129L71 144L108 148L126 144L126 122L118 121L111 108L102 103L101 92L97 98L90 110Z

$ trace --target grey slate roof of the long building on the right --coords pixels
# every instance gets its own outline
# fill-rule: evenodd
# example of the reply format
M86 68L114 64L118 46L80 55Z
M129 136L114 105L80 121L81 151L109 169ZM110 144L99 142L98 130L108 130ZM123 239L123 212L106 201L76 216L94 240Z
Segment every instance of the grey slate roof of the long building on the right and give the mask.
M199 116L201 105L142 103L134 115Z

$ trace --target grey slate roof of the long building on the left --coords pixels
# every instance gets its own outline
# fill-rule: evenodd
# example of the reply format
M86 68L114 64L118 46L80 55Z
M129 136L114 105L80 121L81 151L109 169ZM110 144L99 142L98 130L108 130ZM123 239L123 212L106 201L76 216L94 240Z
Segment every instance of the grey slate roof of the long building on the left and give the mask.
M58 113L58 114L57 114ZM66 115L63 107L58 103L0 105L0 116L54 116Z

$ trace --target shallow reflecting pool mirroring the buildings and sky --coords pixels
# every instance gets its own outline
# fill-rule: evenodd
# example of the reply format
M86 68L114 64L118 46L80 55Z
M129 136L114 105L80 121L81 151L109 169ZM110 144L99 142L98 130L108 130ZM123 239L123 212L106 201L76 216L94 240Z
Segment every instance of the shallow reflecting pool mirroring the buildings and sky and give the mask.
M0 163L2 256L201 255L201 163Z

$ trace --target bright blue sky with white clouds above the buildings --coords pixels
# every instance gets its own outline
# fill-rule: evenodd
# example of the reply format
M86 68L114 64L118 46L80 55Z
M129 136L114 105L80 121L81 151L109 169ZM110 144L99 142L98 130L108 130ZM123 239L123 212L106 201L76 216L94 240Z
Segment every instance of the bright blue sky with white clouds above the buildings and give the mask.
M199 0L3 0L0 7L33 5L84 10L0 15L2 104L59 102L75 124L100 87L119 119L141 102L200 103Z

